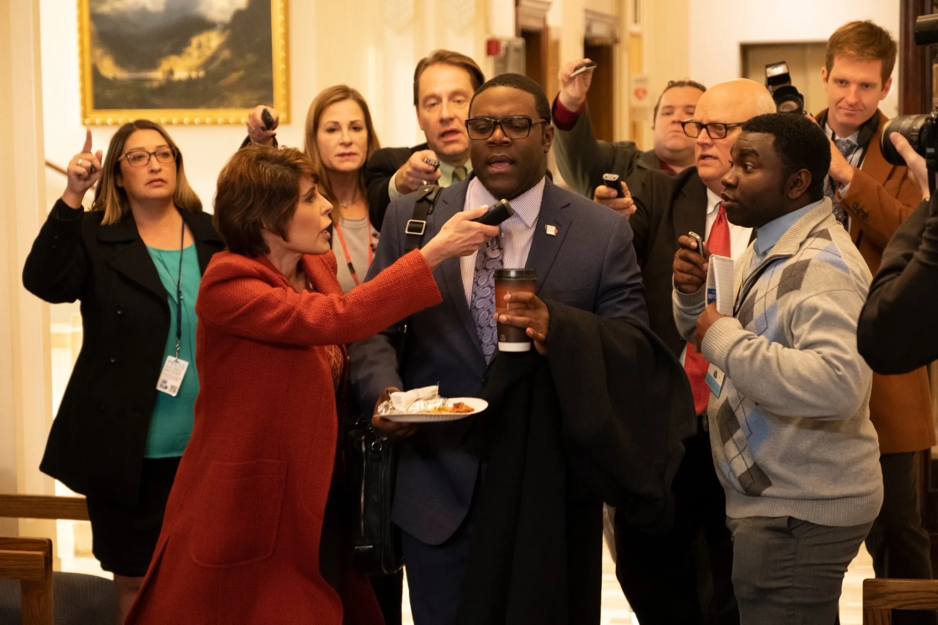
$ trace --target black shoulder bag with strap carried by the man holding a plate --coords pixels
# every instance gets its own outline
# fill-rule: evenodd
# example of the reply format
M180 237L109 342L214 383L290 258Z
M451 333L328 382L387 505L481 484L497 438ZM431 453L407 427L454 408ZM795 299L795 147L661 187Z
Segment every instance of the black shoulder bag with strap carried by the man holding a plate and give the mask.
M427 216L440 194L436 185L421 186L414 202L414 214L407 222L407 251L417 249L423 240ZM406 334L398 346L398 363L406 356ZM401 369L403 367L401 366ZM370 407L362 407L370 408ZM356 571L368 575L397 573L404 563L401 529L391 523L394 481L397 477L397 454L394 443L382 439L371 427L371 410L360 415L347 437L346 470L350 484Z

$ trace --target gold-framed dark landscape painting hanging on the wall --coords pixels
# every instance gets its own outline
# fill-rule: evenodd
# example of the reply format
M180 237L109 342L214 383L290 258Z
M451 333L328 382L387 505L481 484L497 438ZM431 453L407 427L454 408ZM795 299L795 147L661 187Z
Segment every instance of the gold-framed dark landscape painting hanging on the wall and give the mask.
M128 5L124 9L120 0L78 0L83 124L85 126L119 125L140 118L151 119L163 125L244 124L250 109L256 104L265 103L272 104L280 112L281 123L288 122L290 93L287 58L287 2L288 0L246 0L244 8L231 8L232 3L223 2L219 3L218 10L214 14L210 13L207 16L203 13L214 10L215 6L212 3L201 5L192 3L193 6L199 8L188 9L186 21L179 22L185 27L176 27L176 24L168 22L174 17L179 18L178 15L150 13L145 16L148 18L145 23L150 24L148 26L150 30L142 33L140 37L135 37L135 33L123 29L123 24L126 22L129 24L128 28L133 28L133 24L144 23L144 20L121 20L120 11L136 11L134 17L139 18L140 11L145 10L139 7L139 3L134 3L136 6ZM247 23L245 21L247 14L237 16L235 19L237 11L260 11L264 16L267 5L270 7L271 26L269 79L265 72L265 50L257 54L247 53L243 56L245 63L243 67L250 67L250 63L262 64L260 67L263 70L254 73L239 68L240 59L236 56L236 52L233 52L237 50L239 44L242 48L246 44L245 41L234 38L233 33L236 32L236 28L240 28L237 32L250 32L250 28L244 28ZM171 6L177 11L180 7L179 4ZM228 13L229 22L226 23L223 14L227 11L230 12ZM163 12L166 12L165 8ZM158 18L170 25L164 25L162 31L159 27L154 28L152 24L161 23ZM199 20L202 21L199 22ZM214 26L202 31L198 30L208 23ZM186 30L187 28L189 30ZM153 32L154 30L156 33ZM167 45L175 43L178 50L179 38L188 37L189 32L194 32L194 34L188 39L189 44L181 53L164 54L158 58L155 54L159 52L149 52L159 50L159 46L152 45L154 41ZM176 41L159 39L160 36L176 37ZM121 49L120 44L128 42L130 45L125 45ZM141 45L134 47L133 43L138 42ZM164 52L166 52L165 45ZM146 58L148 53L153 53L153 58ZM137 71L129 71L126 67L122 67L120 62L124 59L129 59L131 64L136 64L133 68ZM158 62L159 65L154 65ZM187 71L180 71L180 67ZM217 79L222 75L224 78L216 83L204 82ZM250 85L245 86L249 82ZM205 89L206 84L219 86L217 89ZM240 92L239 88L241 88ZM251 100L251 96L255 96L255 99ZM200 97L201 101L209 105L198 106ZM188 106L176 108L166 106L172 104L174 99ZM125 101L135 103L137 108L109 106L117 102L123 105ZM219 106L219 104L232 102L241 106ZM149 103L164 106L145 106ZM193 104L196 106L192 106Z

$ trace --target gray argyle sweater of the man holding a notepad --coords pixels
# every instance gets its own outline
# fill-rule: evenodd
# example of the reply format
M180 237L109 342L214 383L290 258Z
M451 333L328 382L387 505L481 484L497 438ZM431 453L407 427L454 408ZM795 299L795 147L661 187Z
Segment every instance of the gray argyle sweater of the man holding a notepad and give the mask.
M872 372L856 350L870 270L830 200L752 265L754 255L750 245L735 263L734 317L714 323L702 345L726 374L707 410L726 513L870 523L883 475L870 424ZM674 320L688 340L704 298L704 289L674 290Z

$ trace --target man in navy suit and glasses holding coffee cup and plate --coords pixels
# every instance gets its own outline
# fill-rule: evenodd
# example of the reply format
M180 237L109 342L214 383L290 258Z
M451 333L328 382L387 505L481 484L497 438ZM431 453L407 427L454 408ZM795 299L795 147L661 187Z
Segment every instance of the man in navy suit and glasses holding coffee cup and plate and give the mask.
M388 391L431 384L439 384L445 396L481 396L497 352L492 319L497 267L537 271L537 297L527 303L528 332L542 353L550 343L542 299L647 324L628 220L546 176L554 128L543 89L522 75L502 74L478 88L469 116L473 174L442 190L427 217L424 240L458 211L507 199L515 213L501 224L501 236L477 255L437 267L442 304L352 346L352 379L362 406L373 406ZM369 278L404 254L415 201L412 193L389 205ZM404 326L399 363L395 346ZM415 426L372 420L401 439L392 519L403 530L416 625L450 625L456 617L473 501L485 470L463 447L468 421Z

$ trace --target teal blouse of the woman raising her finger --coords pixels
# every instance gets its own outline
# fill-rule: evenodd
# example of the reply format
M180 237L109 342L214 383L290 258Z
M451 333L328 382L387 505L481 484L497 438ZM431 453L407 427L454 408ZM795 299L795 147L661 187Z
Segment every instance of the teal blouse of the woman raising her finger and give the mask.
M162 371L167 356L175 355L176 324L176 278L179 275L179 250L146 247L153 264L157 266L159 280L166 289L170 305L170 332L166 336L166 348L159 363ZM195 397L199 394L199 374L195 369L195 298L199 294L202 272L195 245L186 247L182 253L182 340L179 358L189 363L186 376L182 379L176 396L157 391L157 404L150 417L150 432L146 437L147 458L178 457L186 450L192 434ZM157 380L153 380L154 387Z

